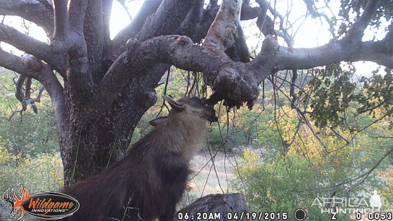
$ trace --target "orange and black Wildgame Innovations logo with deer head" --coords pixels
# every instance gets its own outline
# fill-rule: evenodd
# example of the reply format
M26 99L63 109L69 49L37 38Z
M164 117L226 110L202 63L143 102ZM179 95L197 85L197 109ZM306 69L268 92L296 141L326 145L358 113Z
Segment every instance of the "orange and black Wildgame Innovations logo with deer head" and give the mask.
M27 213L30 216L57 220L71 216L79 209L79 202L72 196L57 192L38 192L30 195L30 191L21 185L21 193L18 196L15 192L11 193L11 187L3 192L3 201L10 207L9 217L22 219Z

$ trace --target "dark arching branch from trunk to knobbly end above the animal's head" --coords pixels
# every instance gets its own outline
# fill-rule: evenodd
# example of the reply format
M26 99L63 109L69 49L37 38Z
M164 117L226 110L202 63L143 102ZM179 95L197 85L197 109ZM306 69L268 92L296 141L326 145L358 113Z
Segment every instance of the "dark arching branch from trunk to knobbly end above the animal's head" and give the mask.
M99 84L98 96L111 101L131 73L138 73L150 63L170 63L178 68L203 72L205 81L234 100L252 101L258 94L258 82L252 67L232 61L213 47L194 45L189 37L160 36L142 43L130 39L128 50L118 57Z

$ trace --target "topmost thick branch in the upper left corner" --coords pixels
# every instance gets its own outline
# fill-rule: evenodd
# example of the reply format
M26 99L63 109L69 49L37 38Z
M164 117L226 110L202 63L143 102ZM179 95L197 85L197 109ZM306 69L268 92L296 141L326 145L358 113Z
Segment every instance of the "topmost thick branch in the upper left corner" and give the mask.
M16 15L44 28L48 37L54 32L54 11L47 0L0 0L1 15Z

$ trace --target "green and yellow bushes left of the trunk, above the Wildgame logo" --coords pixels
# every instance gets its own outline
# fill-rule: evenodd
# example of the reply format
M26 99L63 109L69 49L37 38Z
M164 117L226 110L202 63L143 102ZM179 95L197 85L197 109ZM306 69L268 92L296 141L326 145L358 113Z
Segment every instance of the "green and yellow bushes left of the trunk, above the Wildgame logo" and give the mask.
M4 86L10 85L15 77L3 69L0 75ZM33 86L41 85L33 82ZM22 118L19 113L10 118L21 104L8 91L12 86L0 87L0 190L8 186L18 189L21 184L30 193L59 190L63 186L63 167L49 96L44 92L37 103L38 114L28 108Z

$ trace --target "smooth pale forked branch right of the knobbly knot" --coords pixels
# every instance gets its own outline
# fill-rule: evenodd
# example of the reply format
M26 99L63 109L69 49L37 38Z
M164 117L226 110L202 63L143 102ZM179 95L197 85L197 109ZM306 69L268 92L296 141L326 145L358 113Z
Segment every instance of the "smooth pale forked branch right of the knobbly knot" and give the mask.
M271 62L274 71L285 69L308 69L328 65L340 61L374 61L393 68L393 41L387 33L382 41L362 42L366 25L372 19L378 5L377 0L369 0L364 14L348 30L340 40L332 40L326 45L316 48L281 47L272 37L263 43L262 52L252 61L257 70L265 69L263 63ZM264 51L274 53L263 53ZM272 56L273 55L273 56ZM269 56L269 57L267 57Z

